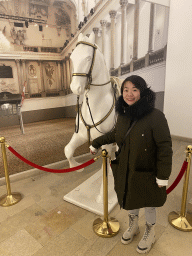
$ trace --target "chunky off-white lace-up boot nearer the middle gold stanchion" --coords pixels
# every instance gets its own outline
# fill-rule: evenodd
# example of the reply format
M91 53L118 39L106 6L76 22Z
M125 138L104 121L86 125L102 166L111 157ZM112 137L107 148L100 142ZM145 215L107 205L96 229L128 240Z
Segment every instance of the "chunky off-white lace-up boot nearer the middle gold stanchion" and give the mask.
M129 244L133 240L133 237L139 234L138 216L129 214L129 228L125 231L121 238L123 244Z

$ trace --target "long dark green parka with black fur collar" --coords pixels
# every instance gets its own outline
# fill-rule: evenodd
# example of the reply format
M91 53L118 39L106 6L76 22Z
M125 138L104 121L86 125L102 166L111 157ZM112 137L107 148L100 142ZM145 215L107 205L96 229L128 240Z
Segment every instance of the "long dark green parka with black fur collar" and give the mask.
M131 122L137 119L117 156L118 168L113 171L118 202L126 210L160 207L167 198L166 187L159 188L156 177L169 179L172 142L165 115L154 108L154 103L155 94L150 89L131 106L120 96L115 128L92 142L97 149L114 142L120 146Z

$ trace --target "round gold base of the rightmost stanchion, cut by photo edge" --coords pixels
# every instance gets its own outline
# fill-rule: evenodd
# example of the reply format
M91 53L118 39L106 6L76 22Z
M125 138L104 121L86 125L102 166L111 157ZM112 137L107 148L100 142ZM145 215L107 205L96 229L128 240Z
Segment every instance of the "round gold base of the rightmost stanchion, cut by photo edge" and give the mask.
M168 221L176 229L192 231L192 214L187 213L185 217L182 217L177 212L170 212Z

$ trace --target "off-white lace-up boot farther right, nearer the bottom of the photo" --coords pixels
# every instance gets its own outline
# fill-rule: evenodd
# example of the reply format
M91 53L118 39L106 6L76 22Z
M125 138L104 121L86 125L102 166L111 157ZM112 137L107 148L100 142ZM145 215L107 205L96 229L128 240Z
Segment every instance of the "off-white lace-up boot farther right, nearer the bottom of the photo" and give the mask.
M147 253L151 250L152 244L155 243L154 225L146 222L145 233L137 246L137 252Z

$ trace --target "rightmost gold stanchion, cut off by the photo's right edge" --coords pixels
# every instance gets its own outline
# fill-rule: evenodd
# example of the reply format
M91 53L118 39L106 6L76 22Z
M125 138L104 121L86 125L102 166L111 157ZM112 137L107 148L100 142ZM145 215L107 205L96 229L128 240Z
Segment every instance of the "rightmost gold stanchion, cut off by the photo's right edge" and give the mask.
M192 214L186 213L186 203L187 203L187 192L189 184L189 174L191 165L191 154L192 146L187 146L186 161L188 162L187 171L185 173L185 180L183 184L183 194L181 201L181 212L171 212L169 213L168 220L169 223L174 227L182 231L192 231Z

